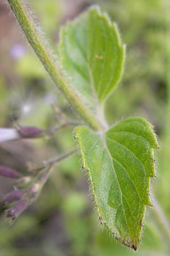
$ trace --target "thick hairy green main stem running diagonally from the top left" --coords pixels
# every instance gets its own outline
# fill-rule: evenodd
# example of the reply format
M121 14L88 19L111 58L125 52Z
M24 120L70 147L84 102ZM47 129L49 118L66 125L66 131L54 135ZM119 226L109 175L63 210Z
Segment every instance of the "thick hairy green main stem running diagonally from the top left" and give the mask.
M104 125L93 113L91 113L90 109L83 104L79 95L63 75L58 60L52 54L52 50L42 35L40 27L32 17L32 11L28 8L25 2L25 0L8 0L28 42L39 57L42 65L80 117L90 125L92 129L103 129Z

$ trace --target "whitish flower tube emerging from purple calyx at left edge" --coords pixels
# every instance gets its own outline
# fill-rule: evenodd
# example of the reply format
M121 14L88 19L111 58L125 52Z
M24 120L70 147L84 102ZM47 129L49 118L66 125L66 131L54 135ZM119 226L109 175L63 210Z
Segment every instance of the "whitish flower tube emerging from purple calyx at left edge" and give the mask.
M0 143L5 141L12 141L14 139L19 139L19 134L16 129L0 128Z

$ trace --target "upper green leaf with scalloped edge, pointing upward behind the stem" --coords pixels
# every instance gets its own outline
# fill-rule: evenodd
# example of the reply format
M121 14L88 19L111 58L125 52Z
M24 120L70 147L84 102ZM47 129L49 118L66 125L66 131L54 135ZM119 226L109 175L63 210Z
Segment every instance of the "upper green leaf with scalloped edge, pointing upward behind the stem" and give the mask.
M62 28L59 57L84 104L100 114L101 105L121 79L125 46L116 24L92 7Z

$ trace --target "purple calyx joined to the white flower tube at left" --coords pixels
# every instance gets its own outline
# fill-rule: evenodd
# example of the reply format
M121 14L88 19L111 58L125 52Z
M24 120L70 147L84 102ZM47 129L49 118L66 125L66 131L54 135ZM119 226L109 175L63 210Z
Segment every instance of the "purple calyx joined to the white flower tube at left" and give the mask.
M22 138L39 138L43 133L42 129L33 126L21 126L18 130L18 134Z

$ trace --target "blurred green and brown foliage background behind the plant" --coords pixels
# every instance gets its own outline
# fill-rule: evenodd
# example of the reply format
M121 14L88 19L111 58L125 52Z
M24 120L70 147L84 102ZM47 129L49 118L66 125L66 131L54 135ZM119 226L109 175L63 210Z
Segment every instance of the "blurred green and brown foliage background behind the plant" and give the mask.
M126 43L124 77L109 97L109 123L139 115L148 119L159 136L158 177L152 191L170 220L170 83L168 0L30 0L31 7L57 52L59 27L92 4L100 5L116 21ZM170 38L170 37L169 37ZM169 69L168 69L169 67ZM37 61L19 32L5 0L0 0L0 126L20 125L50 129L56 125L52 104L74 117L67 102ZM75 117L76 118L76 117ZM0 145L1 165L25 175L29 163L36 165L74 146L73 127L52 137L6 142ZM12 183L0 180L0 196ZM124 256L134 255L110 238L99 225L87 178L73 156L57 166L39 199L8 226L1 218L0 256ZM138 255L169 255L164 235L147 209L146 225Z

